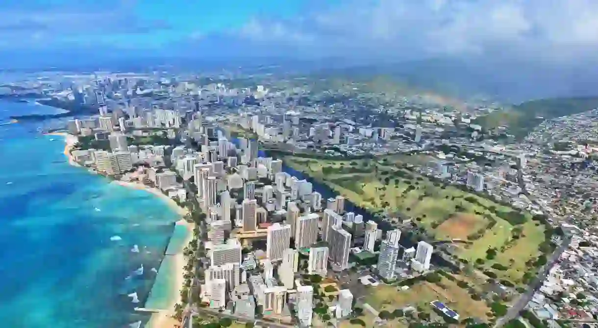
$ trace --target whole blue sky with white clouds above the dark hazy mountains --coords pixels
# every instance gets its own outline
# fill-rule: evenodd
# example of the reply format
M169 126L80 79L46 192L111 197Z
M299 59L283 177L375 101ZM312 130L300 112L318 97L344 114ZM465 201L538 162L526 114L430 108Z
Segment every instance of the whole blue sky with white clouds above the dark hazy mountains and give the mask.
M596 0L4 0L0 54L579 63L596 17Z

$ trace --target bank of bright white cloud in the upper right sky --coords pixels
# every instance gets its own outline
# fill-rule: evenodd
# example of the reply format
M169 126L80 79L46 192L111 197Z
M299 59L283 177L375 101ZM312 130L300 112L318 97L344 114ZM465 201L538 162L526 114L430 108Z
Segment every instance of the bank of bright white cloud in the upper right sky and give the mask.
M596 0L355 0L302 20L252 20L242 36L329 55L574 60L598 51L597 18Z

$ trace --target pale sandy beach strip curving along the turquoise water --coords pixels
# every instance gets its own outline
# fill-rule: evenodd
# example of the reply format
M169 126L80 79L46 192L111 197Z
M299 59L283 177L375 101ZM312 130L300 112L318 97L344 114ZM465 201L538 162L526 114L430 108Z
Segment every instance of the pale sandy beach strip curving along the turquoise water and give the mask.
M75 143L78 142L78 138L75 135L68 134L66 132L50 132L47 135L56 135L60 137L64 137L65 139L65 149L63 153L69 160L69 165L83 167L75 159L71 156L71 150ZM167 205L174 210L181 218L175 222L175 225L184 225L187 228L187 236L182 244L182 249L180 249L174 255L164 255L164 256L173 256L174 263L175 263L175 277L173 279L173 284L170 286L172 288L172 293L169 296L169 305L168 309L165 311L160 311L151 315L148 323L145 325L148 328L175 328L180 327L181 323L172 317L175 314L175 305L181 301L181 290L183 285L185 284L185 266L187 265L187 259L183 255L183 249L189 245L191 240L193 240L193 229L194 223L187 222L185 220L185 216L189 213L186 208L183 208L178 205L172 198L163 194L160 190L154 187L149 187L141 182L134 182L134 181L121 181L121 180L114 180L110 181L111 184L117 184L121 187L126 188L133 188L136 190L144 190L148 193L153 194L154 196L158 197L159 199L163 200L167 203ZM176 228L176 227L175 227ZM167 245L168 246L168 245ZM166 250L164 250L166 252ZM160 270L160 268L158 268Z

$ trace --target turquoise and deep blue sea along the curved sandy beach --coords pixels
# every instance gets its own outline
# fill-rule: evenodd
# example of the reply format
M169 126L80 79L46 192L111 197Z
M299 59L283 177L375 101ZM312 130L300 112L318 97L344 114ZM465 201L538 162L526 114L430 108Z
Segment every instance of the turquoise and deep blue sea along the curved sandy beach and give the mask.
M0 122L53 111L0 101ZM179 216L145 191L69 165L62 137L35 132L40 124L0 126L0 327L147 321L133 308L144 304Z

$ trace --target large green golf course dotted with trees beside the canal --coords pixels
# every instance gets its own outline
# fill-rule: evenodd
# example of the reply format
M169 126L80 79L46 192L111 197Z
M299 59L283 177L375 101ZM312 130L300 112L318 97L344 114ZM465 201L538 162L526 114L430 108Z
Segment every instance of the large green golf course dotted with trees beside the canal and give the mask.
M484 197L441 185L401 166L395 159L327 160L287 156L286 165L324 182L356 205L373 212L400 212L436 240L467 240L456 255L483 270L493 264L500 279L521 283L526 262L540 255L544 226L530 213L513 211ZM422 159L417 159L422 160ZM488 251L496 256L488 256ZM483 262L483 263L481 263Z

